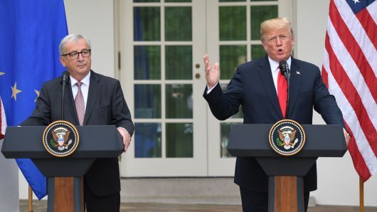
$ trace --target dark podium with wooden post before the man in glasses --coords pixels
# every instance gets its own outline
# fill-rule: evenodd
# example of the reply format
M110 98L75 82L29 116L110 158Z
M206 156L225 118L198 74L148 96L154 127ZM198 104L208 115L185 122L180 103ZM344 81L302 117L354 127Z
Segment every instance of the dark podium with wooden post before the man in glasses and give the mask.
M1 152L7 159L30 158L47 178L48 212L83 212L83 176L96 158L118 157L124 145L115 126L77 126L78 148L55 157L43 147L46 127L8 127Z

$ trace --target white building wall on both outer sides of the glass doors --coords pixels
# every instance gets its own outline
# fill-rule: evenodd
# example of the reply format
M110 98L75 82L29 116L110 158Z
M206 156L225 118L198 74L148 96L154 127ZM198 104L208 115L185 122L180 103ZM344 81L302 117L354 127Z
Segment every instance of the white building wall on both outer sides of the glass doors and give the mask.
M129 0L127 0L129 1ZM296 0L296 57L322 66L324 36L329 0ZM112 0L65 0L69 33L87 36L92 43L92 69L110 77L115 76L114 2ZM314 124L324 124L314 115ZM359 205L359 176L354 171L347 152L343 158L321 158L317 161L318 190L312 192L318 204ZM27 184L22 174L20 198L26 199ZM377 176L365 186L365 206L377 206Z

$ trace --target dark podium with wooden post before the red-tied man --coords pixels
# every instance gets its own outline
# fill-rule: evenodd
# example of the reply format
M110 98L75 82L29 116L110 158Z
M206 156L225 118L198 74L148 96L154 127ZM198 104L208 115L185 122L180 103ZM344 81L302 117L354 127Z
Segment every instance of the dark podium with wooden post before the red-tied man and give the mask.
M297 154L282 156L270 147L271 127L272 124L233 124L228 151L235 157L255 157L269 176L270 212L303 212L303 176L318 157L343 157L347 151L343 128L341 125L303 124L304 147Z

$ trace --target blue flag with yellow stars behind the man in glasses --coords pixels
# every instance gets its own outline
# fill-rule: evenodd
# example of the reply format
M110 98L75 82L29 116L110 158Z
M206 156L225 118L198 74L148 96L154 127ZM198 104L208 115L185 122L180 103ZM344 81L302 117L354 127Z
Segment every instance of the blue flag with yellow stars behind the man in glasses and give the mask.
M0 1L0 97L8 126L33 112L42 83L61 75L59 43L68 34L63 0ZM30 159L17 164L38 199L46 178Z

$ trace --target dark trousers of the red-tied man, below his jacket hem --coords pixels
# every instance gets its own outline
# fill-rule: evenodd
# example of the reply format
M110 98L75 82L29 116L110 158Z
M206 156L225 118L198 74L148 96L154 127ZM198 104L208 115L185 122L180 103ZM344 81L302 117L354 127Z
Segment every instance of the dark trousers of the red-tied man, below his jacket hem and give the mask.
M268 211L268 193L250 191L240 187L241 201L243 212L267 212ZM309 203L309 193L304 192L304 208L307 211Z

